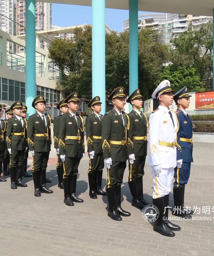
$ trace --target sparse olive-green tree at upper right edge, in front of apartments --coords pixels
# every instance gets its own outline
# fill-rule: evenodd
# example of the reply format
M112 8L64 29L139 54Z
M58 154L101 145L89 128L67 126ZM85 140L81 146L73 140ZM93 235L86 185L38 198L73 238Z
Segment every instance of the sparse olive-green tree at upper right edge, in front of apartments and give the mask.
M173 69L182 67L196 69L196 74L203 80L213 63L213 22L204 23L194 30L188 30L171 40L171 62Z

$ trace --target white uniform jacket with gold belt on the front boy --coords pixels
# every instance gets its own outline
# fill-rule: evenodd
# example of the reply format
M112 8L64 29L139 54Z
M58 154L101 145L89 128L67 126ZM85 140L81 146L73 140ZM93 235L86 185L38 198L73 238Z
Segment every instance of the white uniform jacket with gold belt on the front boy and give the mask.
M177 143L177 117L176 114L171 111L173 122L168 110L164 106L159 106L158 109L150 115L149 118L149 164L151 166L161 165L162 168L175 168L176 161L176 146L162 146L161 142L175 142Z

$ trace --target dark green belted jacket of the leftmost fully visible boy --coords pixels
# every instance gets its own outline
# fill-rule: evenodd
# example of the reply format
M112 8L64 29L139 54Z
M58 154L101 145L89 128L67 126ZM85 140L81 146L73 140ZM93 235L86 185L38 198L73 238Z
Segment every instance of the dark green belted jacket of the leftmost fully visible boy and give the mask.
M23 118L23 117L22 117ZM26 144L26 126L27 121L23 118L24 127L22 127L20 121L16 116L11 117L7 121L7 148L14 150L24 150L27 146ZM23 133L24 135L12 135L12 133Z

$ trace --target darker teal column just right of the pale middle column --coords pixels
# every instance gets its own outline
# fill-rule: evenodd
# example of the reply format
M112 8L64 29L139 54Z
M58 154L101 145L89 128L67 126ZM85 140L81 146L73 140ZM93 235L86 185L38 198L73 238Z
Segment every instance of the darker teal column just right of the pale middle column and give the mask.
M129 0L129 95L138 88L138 0ZM129 105L131 108L131 105Z

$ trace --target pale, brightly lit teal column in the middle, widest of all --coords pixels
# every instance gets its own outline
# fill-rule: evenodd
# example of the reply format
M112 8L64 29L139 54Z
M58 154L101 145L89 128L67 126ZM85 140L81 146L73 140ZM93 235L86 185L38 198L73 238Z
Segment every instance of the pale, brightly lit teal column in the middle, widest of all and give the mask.
M92 97L100 96L102 114L106 112L105 33L105 0L92 0Z

